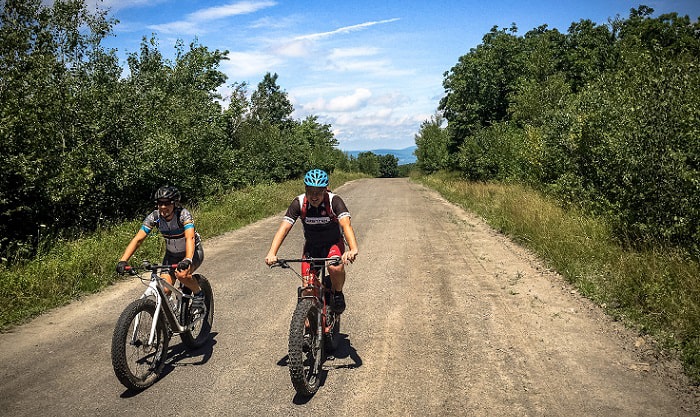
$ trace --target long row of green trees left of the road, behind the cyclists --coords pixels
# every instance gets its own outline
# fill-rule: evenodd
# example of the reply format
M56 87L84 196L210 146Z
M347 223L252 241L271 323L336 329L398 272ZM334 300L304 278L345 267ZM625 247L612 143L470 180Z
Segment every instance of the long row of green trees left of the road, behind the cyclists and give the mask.
M168 60L144 38L122 68L101 45L117 23L107 12L89 13L83 0L0 7L4 263L143 215L166 183L196 204L311 167L380 176L377 156L348 157L330 125L294 120L277 74L252 92L234 82L230 96L218 93L227 51L179 42Z

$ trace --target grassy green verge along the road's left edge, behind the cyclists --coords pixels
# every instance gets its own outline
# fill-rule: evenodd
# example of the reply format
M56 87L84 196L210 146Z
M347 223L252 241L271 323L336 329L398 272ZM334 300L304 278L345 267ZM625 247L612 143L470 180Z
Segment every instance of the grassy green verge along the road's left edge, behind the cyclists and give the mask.
M331 188L361 177L364 176L335 172L331 175ZM299 180L259 185L211 198L191 210L197 230L206 240L279 213L301 192L303 184ZM0 330L96 293L120 279L114 267L141 220L75 241L58 242L48 253L24 265L7 268L0 264ZM163 252L163 240L154 233L132 259L160 260ZM261 259L264 255L260 255Z

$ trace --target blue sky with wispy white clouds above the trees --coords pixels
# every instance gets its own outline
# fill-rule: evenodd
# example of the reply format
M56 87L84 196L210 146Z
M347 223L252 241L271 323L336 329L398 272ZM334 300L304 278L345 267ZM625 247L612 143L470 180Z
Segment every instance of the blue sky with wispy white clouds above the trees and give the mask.
M413 146L420 124L444 95L445 71L491 27L518 33L547 24L566 32L581 19L604 24L645 4L655 16L693 20L700 0L394 1L394 0L87 0L120 23L104 46L125 57L154 34L174 57L178 39L229 51L220 69L253 91L265 73L294 105L295 119L316 115L343 150Z

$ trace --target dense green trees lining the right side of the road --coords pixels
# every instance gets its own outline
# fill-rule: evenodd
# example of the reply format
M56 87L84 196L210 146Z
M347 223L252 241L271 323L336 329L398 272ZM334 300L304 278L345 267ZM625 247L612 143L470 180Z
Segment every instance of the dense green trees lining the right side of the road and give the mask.
M494 27L445 74L418 167L525 182L604 215L624 242L700 254L700 20L652 15Z

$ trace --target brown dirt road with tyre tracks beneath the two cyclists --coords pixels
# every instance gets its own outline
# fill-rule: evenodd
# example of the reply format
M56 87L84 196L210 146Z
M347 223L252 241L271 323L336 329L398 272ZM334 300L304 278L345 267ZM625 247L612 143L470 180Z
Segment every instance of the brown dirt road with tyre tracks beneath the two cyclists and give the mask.
M143 290L132 279L0 334L0 415L700 415L677 362L477 217L406 179L336 191L360 256L314 397L286 367L298 283L263 263L280 214L205 241L213 338L194 352L173 338L154 386L130 393L111 368L114 324ZM280 257L300 254L300 229Z

